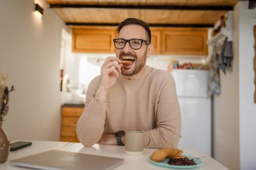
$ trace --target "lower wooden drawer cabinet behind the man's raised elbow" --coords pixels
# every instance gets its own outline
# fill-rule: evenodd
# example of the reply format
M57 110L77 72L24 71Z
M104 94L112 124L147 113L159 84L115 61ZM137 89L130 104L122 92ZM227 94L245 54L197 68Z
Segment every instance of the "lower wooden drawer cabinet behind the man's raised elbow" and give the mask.
M83 105L63 105L61 108L61 141L76 142L76 124L84 111Z

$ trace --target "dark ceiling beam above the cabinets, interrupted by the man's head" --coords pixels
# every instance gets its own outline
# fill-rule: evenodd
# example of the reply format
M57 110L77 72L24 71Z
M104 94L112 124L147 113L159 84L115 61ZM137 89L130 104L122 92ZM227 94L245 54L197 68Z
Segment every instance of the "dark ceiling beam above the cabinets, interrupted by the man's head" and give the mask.
M67 26L119 26L118 23L66 22ZM213 24L148 24L150 27L212 28Z

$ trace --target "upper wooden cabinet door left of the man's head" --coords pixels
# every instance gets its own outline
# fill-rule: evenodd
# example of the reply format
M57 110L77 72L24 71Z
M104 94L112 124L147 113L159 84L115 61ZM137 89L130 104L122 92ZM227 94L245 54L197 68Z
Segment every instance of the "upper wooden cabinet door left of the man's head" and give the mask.
M74 28L72 35L73 52L115 52L113 38L115 29Z

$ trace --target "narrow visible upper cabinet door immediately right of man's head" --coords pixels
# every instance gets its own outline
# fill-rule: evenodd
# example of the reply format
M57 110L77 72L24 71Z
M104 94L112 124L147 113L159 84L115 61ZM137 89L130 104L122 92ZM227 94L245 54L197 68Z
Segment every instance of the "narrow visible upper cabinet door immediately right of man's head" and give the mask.
M151 30L151 43L154 46L153 54L161 53L161 31Z

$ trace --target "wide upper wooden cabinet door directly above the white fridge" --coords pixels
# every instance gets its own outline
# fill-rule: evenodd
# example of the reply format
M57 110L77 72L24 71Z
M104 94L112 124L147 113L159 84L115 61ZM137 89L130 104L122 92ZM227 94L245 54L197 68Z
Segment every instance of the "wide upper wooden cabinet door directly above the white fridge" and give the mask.
M164 30L162 54L207 56L207 30Z

